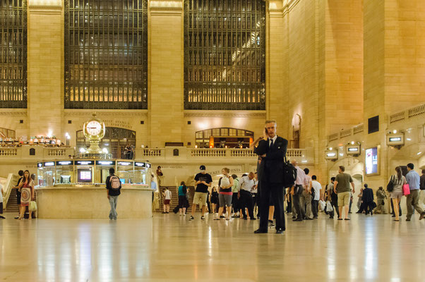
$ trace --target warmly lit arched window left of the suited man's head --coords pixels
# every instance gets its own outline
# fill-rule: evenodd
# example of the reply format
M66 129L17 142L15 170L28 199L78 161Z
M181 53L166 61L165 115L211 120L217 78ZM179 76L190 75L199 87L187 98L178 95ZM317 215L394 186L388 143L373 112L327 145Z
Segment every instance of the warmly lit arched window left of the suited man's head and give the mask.
M254 133L238 128L210 128L196 132L199 148L247 148Z

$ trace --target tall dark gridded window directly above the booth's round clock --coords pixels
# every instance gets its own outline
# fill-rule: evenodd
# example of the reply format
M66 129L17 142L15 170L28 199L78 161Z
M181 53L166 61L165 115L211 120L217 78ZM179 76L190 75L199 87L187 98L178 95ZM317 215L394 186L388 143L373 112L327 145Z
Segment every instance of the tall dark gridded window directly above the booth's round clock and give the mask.
M65 108L148 108L148 0L65 1Z

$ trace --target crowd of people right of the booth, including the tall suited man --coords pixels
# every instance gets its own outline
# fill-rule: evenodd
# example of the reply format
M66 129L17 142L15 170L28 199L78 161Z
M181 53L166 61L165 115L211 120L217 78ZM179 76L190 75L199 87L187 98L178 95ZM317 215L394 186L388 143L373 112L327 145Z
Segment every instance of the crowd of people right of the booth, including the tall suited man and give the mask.
M278 139L280 138L280 139ZM222 168L222 177L218 187L213 186L213 178L206 173L205 166L200 166L200 172L195 176L195 193L189 221L195 219L196 209L201 210L201 220L205 220L208 212L214 214L214 220L260 219L259 228L255 233L267 233L267 228L276 228L277 233L285 231L285 212L283 202L286 202L286 213L292 214L293 221L318 219L321 210L328 214L330 219L349 221L353 195L356 192L354 180L345 172L345 166L339 166L337 176L330 178L330 183L325 188L318 182L317 176L310 176L309 168L301 169L296 160L291 164L297 171L294 185L285 186L281 164L284 164L287 140L276 135L275 121L265 124L265 135L253 142L254 152L258 154L257 172L247 173L238 177L230 174L229 168ZM387 191L380 187L376 190L376 197L368 184L359 191L357 202L359 214L373 215L373 212L385 214L385 199L390 197L393 217L400 220L400 200L406 197L407 216L410 221L414 210L419 213L419 220L423 219L425 212L421 205L425 204L425 170L422 176L414 171L413 164L407 164L407 174L402 175L402 168L395 168L395 175L391 176ZM211 188L211 189L210 189ZM211 192L210 192L211 190ZM425 195L424 195L425 196ZM167 195L164 194L165 200ZM419 204L419 198L422 202ZM169 193L171 199L171 192ZM186 215L189 207L188 188L184 183L179 186L179 210L181 216ZM168 213L165 207L164 213Z

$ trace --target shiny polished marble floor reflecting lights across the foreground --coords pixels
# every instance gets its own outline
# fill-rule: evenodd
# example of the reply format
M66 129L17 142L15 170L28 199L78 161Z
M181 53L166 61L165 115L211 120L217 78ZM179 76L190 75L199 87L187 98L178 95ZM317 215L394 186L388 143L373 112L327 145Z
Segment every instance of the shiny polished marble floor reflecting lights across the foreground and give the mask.
M425 281L425 220L153 219L0 221L0 281Z

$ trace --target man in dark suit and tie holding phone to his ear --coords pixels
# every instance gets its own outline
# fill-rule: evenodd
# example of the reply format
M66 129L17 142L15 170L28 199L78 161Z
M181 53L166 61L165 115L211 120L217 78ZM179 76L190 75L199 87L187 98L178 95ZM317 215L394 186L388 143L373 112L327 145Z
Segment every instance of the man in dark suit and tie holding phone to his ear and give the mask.
M267 233L268 231L268 207L270 196L275 205L276 233L285 231L285 214L283 210L283 161L287 153L288 140L276 135L276 121L266 121L264 139L258 142L254 152L261 157L263 164L263 176L261 182L260 197L260 228L254 233Z

